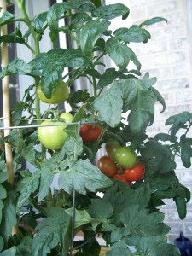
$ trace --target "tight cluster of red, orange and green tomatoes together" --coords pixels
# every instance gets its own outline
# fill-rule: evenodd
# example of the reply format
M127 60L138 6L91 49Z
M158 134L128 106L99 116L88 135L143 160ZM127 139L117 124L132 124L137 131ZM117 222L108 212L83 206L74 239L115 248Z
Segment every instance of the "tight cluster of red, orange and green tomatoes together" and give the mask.
M145 167L137 161L137 154L131 147L122 147L118 142L106 143L108 155L97 161L98 168L108 177L121 180L131 186L143 179Z

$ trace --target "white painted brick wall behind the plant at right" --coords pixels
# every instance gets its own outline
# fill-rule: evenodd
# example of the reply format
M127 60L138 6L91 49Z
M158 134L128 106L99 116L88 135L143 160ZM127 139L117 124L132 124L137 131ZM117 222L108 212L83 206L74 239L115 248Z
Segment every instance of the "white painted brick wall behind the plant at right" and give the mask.
M186 9L185 1L181 0L130 0L130 9L134 24L154 16L168 20L167 24L162 22L147 27L151 33L148 44L133 45L142 63L143 72L148 71L151 76L157 77L158 82L155 86L166 100L166 111L160 113L161 106L157 104L154 125L148 128L148 132L156 134L167 131L168 127L164 123L170 115L184 110L192 111L192 45L187 23L188 11L192 10ZM178 162L177 177L192 192L192 168L184 169ZM166 224L172 228L169 233L171 242L181 230L185 236L192 239L192 201L188 204L188 214L184 220L178 218L172 200L166 200L166 206L161 210L165 212Z

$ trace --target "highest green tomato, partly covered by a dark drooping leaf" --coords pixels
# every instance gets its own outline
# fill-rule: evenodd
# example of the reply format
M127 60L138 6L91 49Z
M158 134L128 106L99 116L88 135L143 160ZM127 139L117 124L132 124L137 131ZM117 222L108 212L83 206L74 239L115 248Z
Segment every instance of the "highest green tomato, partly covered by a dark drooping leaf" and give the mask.
M64 81L59 80L50 99L48 99L46 96L44 96L44 92L41 90L41 83L39 83L37 87L37 95L42 102L57 104L59 102L64 102L67 100L67 97L69 96L69 89Z

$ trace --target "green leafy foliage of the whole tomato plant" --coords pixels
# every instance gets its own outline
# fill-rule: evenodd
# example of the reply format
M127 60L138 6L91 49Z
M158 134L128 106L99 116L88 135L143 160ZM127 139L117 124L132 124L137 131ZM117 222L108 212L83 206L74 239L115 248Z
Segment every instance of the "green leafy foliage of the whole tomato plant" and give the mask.
M124 4L102 6L100 0L70 0L55 3L31 19L26 1L15 2L21 16L15 20L15 15L3 13L0 26L14 23L15 32L1 36L0 42L22 44L34 57L29 63L15 58L3 68L0 78L19 74L32 76L34 82L11 111L11 125L17 129L6 137L0 134L0 255L67 256L75 251L75 255L98 256L101 246L96 235L102 235L110 246L108 256L179 255L177 247L166 241L170 227L158 207L165 199L173 200L179 217L186 217L190 192L179 183L175 170L176 157L184 167L191 166L192 113L170 117L166 120L170 125L167 134L148 137L146 130L154 122L156 102L160 102L162 112L166 102L154 88L157 79L141 74L142 63L131 49L133 43L145 44L151 38L147 26L166 19L154 17L112 31L111 20L125 20L130 14ZM59 26L61 19L67 20L66 26ZM26 31L21 29L21 22L26 24ZM63 32L75 47L40 52L47 29L53 42ZM106 67L103 56L115 67ZM134 69L130 70L130 64ZM89 88L73 90L73 83L82 78ZM60 119L64 110L49 105L42 113L36 88L41 82L44 95L50 98L59 79L72 89L67 103L73 108L74 124L65 128L69 137L64 146L48 150L40 147L36 125L43 119ZM83 143L81 125L95 122L101 125L102 134L91 143ZM20 128L23 125L27 126ZM143 180L129 186L97 168L97 152L103 143L113 140L136 151L137 160L145 166ZM13 149L14 186L8 182L4 143ZM26 161L32 170L26 169ZM52 188L55 179L57 189ZM102 198L97 192L102 192ZM14 236L13 226L17 228ZM73 241L79 230L84 232L84 240Z

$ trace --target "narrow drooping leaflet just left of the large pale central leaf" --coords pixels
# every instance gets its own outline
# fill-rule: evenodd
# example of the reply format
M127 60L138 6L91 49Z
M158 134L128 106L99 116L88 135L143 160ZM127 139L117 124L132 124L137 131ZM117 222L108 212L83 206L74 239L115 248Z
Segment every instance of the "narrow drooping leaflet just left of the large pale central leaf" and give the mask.
M46 161L42 163L38 201L42 201L44 197L48 194L50 185L53 182L54 176L55 176L55 172L50 162Z

